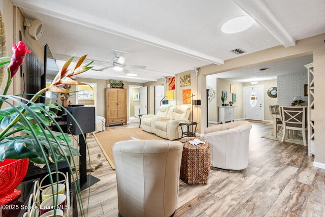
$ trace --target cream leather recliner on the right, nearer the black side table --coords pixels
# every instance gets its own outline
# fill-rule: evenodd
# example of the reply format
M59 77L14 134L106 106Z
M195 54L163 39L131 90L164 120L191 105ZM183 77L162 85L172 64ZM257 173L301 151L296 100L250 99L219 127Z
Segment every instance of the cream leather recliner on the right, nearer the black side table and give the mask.
M165 139L174 140L182 137L182 130L179 127L179 120L187 120L190 107L178 105L174 107L171 116L159 117L155 122L155 134ZM168 112L170 113L170 112Z

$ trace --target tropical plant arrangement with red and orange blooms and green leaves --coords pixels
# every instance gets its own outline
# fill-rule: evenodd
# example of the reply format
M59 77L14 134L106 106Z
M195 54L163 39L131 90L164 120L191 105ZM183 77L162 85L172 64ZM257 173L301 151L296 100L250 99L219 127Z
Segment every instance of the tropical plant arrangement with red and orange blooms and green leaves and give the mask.
M0 66L9 64L6 70L7 82L2 95L0 95L0 128L2 129L0 133L0 161L5 161L6 159L29 159L29 161L36 164L46 164L48 173L51 173L50 163L54 163L57 171L56 163L62 161L69 162L68 156L70 156L72 164L76 168L73 157L80 156L78 148L69 145L71 140L68 138L68 134L63 133L55 121L55 113L46 109L50 107L57 110L65 110L65 108L51 103L35 102L39 97L43 97L41 95L46 91L70 94L75 91L62 87L66 85L85 85L85 83L74 80L74 77L91 69L92 67L89 65L93 61L82 64L87 56L84 55L77 61L75 67L68 69L74 59L74 55L71 56L58 72L51 85L41 89L31 100L27 100L22 95L7 95L13 77L22 65L25 55L30 53L22 41L14 44L12 49L14 54L10 60L8 60L10 57L0 58ZM7 108L3 109L4 104L7 104ZM56 125L60 132L51 131L51 125ZM68 163L68 165L70 164ZM75 181L78 174L70 166L69 169L74 181L81 214L84 215L80 187ZM54 192L53 180L51 176L49 177L52 183L52 192ZM57 173L56 179L58 180ZM54 204L56 203L54 202Z

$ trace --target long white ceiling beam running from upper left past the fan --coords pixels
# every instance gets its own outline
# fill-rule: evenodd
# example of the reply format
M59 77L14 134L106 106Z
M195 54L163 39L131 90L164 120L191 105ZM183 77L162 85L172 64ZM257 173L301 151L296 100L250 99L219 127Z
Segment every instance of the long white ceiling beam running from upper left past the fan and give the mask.
M145 44L170 50L193 58L201 59L212 64L223 64L222 59L204 53L200 53L198 51L191 50L186 47L182 47L177 44L173 44L168 41L164 41L144 33L140 33L137 30L117 25L107 20L103 20L99 17L93 17L90 14L73 11L73 9L66 8L64 5L55 4L54 1L29 0L28 2L25 2L24 0L12 0L12 2L15 6L35 11L40 14L45 14L58 19L77 23L83 26L87 26L89 28L102 30L103 32L139 41Z

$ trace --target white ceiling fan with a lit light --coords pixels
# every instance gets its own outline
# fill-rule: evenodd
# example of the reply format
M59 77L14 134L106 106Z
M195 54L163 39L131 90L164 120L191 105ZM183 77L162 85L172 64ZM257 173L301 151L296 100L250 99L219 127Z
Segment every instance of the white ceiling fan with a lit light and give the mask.
M110 66L101 68L101 69L91 69L94 71L103 71L105 69L113 68L115 71L122 71L128 76L137 76L137 74L131 73L126 68L132 68L132 69L145 69L146 66L136 66L136 65L124 65L126 58L122 56L122 54L125 54L126 52L118 51L118 50L112 50L111 52L114 53L113 59L110 61Z

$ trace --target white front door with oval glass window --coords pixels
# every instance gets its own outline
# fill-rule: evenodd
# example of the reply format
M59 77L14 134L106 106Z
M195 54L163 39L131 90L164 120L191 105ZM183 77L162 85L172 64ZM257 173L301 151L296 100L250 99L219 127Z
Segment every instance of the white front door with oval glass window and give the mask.
M249 86L244 87L244 115L245 119L264 119L264 87Z

